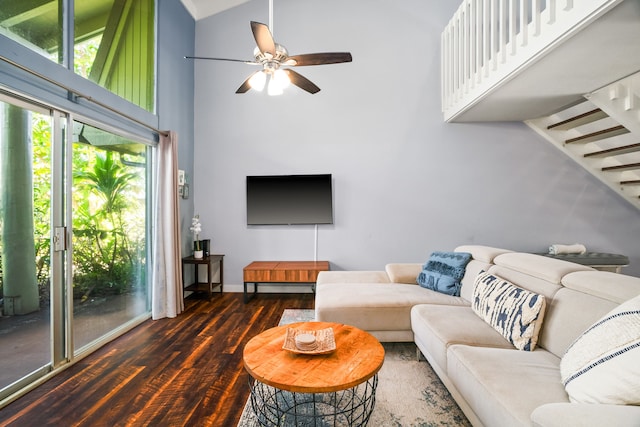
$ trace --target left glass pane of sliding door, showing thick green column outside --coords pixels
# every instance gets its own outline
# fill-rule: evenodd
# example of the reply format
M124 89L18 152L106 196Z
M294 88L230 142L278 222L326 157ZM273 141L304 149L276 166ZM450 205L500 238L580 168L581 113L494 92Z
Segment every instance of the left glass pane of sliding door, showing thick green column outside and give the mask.
M52 360L52 115L0 98L0 389Z

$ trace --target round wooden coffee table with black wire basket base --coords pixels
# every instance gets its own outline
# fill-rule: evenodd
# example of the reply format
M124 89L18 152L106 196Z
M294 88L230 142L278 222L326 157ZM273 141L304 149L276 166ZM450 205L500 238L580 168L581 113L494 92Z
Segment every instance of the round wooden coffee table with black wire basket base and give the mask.
M333 330L327 354L283 349L287 329ZM349 325L300 322L268 329L243 352L251 375L251 406L263 426L366 425L375 405L384 348L368 332Z

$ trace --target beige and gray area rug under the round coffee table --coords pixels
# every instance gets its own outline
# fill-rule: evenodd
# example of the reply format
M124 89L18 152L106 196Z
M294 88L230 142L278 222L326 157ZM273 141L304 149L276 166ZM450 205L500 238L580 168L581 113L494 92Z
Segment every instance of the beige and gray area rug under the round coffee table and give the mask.
M281 325L311 321L313 310L287 309ZM428 362L416 360L413 343L383 343L384 364L378 373L376 403L370 426L435 427L470 426ZM247 400L238 427L257 427Z

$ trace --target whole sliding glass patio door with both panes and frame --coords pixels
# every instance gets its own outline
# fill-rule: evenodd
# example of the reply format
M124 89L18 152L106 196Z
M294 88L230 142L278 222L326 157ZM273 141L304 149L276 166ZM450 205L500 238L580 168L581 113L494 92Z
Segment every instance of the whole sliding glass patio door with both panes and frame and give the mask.
M0 93L0 401L149 317L145 141Z

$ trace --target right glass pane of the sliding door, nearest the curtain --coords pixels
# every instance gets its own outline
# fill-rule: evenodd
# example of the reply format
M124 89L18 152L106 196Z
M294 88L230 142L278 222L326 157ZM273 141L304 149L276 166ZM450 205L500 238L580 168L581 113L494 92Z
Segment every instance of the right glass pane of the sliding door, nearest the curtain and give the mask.
M74 122L76 350L146 313L147 147Z

